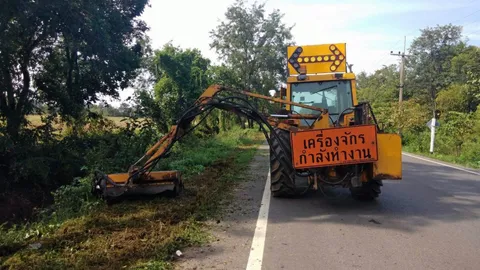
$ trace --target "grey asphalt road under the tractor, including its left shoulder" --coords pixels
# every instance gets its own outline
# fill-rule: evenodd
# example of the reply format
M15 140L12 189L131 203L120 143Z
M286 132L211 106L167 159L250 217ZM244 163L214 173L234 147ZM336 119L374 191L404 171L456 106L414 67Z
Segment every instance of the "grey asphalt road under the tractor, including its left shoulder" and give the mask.
M341 188L266 200L260 161L236 204L251 211L222 220L211 252L186 256L192 269L480 269L479 171L404 155L403 180L374 202Z

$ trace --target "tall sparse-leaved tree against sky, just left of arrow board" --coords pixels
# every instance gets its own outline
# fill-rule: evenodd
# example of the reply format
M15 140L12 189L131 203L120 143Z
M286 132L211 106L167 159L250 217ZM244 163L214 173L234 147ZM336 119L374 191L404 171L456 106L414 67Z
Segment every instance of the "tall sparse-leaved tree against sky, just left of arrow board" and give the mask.
M237 0L225 13L226 20L210 32L211 48L232 68L245 89L268 94L287 76L287 46L292 27L282 23L283 14L265 15L265 4L245 6Z

